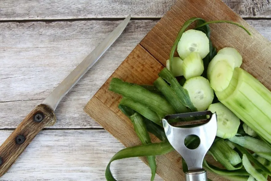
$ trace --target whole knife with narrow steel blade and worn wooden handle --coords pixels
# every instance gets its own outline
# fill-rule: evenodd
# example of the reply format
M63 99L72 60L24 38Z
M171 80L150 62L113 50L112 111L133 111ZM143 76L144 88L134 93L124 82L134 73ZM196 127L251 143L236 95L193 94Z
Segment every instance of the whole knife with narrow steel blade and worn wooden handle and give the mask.
M0 146L0 177L4 175L33 138L56 122L55 108L61 99L114 43L127 26L126 17L38 106L36 106Z

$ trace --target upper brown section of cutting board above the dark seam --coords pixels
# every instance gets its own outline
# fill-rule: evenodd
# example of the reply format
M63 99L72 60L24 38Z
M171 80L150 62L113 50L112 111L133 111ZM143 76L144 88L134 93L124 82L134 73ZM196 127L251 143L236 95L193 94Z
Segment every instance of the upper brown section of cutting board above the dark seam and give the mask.
M202 4L200 9L198 4ZM211 6L212 11L206 8ZM184 7L189 7L189 10L180 16L179 12L183 11ZM170 54L169 45L173 44L179 31L177 27L182 26L190 17L202 17L207 21L219 17L218 19L235 21L247 27L252 36L231 24L211 24L212 43L218 50L226 46L235 47L243 57L241 68L271 90L270 42L220 1L177 1L140 44L165 65Z

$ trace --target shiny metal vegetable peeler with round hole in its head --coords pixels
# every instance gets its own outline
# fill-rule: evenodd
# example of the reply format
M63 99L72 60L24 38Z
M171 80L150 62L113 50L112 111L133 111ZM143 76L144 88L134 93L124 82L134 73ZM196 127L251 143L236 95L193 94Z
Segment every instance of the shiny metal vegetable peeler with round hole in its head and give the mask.
M207 123L190 128L180 128L169 124L169 119L186 117L209 116ZM185 172L186 181L207 181L207 172L202 168L205 154L211 147L217 130L217 116L211 111L199 111L193 113L172 114L162 119L163 126L168 141L173 148L185 160L188 171ZM189 135L196 135L200 139L200 144L195 149L188 149L185 146L185 138Z

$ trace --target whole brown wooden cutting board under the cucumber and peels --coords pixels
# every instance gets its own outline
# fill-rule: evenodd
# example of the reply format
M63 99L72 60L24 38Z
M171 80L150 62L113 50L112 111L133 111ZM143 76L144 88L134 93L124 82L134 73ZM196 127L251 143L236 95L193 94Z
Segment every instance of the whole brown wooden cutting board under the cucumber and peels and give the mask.
M121 96L108 90L109 83L113 77L117 77L131 83L152 84L169 59L170 49L179 29L191 17L201 17L206 21L230 20L245 26L252 37L234 25L211 24L211 40L217 50L226 46L236 48L243 57L241 68L270 90L271 46L268 40L220 0L177 0L84 107L89 116L126 147L141 143L132 123L117 107ZM158 141L153 135L151 138L153 142ZM146 163L144 157L140 159ZM185 180L181 158L176 151L157 156L156 160L157 173L163 179ZM211 173L208 176L212 180L225 180Z

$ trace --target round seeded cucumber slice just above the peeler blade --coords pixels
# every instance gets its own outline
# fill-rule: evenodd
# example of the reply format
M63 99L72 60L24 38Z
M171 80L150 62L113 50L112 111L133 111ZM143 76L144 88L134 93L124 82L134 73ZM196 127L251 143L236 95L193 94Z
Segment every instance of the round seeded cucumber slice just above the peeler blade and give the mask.
M190 78L185 81L183 88L188 91L189 97L198 111L206 110L213 101L213 89L204 77Z

